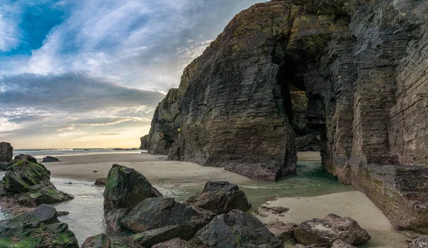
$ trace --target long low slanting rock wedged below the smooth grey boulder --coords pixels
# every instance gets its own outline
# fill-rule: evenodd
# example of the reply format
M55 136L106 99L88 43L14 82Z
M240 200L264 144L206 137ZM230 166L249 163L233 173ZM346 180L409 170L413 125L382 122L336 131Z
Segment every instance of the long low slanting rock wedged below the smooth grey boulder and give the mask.
M143 247L151 247L153 244L168 241L170 239L192 239L196 232L210 222L211 218L201 216L190 222L175 224L167 227L151 229L146 232L135 234L128 238L129 244L138 244Z

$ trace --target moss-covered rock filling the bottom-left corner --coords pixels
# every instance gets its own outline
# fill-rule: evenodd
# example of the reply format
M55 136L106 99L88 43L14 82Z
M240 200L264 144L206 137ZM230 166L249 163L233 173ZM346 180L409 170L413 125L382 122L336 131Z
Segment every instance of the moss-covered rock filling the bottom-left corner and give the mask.
M78 243L68 225L58 221L55 208L40 205L0 221L0 247L78 248Z

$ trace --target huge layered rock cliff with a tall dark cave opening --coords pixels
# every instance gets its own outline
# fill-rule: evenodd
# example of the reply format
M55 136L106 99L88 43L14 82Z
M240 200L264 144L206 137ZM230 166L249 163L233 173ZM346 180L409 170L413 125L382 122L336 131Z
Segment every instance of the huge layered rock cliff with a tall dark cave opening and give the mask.
M148 144L258 180L295 172L297 149L320 150L394 227L428 233L427 19L427 1L256 4L159 105L151 135L176 123L172 145Z

